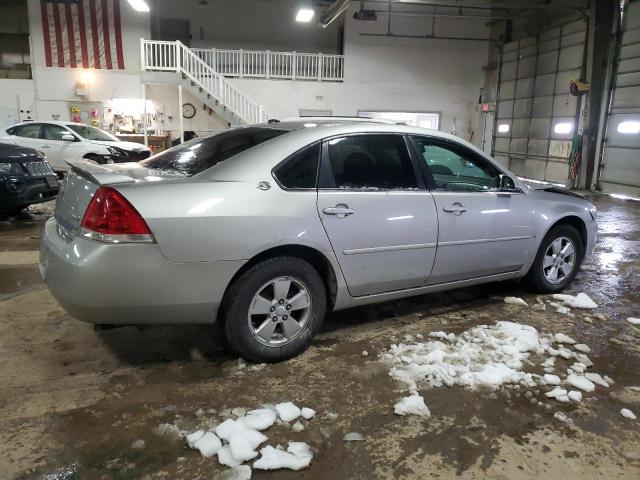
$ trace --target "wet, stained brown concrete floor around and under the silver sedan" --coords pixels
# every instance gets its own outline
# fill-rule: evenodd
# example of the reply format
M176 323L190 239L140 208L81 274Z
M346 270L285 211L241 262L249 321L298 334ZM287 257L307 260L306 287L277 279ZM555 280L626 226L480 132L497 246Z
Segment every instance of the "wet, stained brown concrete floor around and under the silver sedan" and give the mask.
M506 305L506 295L533 303L535 295L518 283L493 284L333 314L306 353L260 370L243 368L211 327L95 333L39 278L46 208L0 223L0 478L215 478L225 470L216 459L158 426L194 428L225 408L287 400L318 415L303 432L279 425L267 436L274 445L309 443L311 466L253 478L640 478L640 423L619 414L640 414L640 389L629 388L640 386L640 328L625 321L640 317L640 204L591 200L600 210L588 262L595 269L580 272L570 291L591 296L603 319ZM406 392L376 360L392 336L460 333L495 320L572 336L615 384L579 405L542 408L511 389L423 390L431 418L393 414ZM556 411L573 423L555 420ZM351 431L364 441L343 441ZM132 448L136 440L145 447Z

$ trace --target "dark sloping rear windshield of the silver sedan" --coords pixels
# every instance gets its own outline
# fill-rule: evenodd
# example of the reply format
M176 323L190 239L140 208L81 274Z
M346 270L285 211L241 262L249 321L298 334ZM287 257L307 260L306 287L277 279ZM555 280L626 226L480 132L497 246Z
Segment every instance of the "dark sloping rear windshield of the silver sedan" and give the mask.
M146 168L182 175L195 175L288 130L244 127L194 138L140 162Z

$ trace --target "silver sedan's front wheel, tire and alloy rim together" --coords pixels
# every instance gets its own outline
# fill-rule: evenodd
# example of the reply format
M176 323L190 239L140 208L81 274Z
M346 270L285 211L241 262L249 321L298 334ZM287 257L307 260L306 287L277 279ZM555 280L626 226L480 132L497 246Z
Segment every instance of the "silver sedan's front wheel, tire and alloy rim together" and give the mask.
M542 240L526 279L538 292L559 292L573 281L583 257L578 231L571 225L557 225Z

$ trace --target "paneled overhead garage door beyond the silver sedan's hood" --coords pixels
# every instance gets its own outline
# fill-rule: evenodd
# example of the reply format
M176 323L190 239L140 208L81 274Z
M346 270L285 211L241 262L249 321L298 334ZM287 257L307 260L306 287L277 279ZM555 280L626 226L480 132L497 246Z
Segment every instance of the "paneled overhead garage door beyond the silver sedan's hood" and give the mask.
M581 77L585 36L576 21L504 45L493 154L518 176L567 179L580 106L569 83Z

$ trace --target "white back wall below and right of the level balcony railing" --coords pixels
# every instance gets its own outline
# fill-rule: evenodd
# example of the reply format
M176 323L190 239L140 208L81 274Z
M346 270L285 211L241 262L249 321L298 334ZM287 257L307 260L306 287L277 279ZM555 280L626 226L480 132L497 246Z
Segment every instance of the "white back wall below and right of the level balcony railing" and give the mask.
M379 4L378 4L379 5ZM233 82L279 118L298 110L327 109L334 115L357 115L360 110L440 112L441 130L479 141L478 98L484 81L482 66L488 42L363 36L387 33L387 17L376 22L353 19L357 5L345 17L344 83L234 79ZM393 17L391 32L429 33L431 20ZM435 35L488 37L478 20L438 19ZM481 140L481 138L480 138Z

